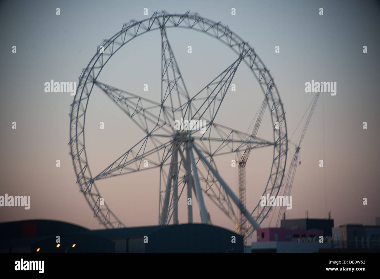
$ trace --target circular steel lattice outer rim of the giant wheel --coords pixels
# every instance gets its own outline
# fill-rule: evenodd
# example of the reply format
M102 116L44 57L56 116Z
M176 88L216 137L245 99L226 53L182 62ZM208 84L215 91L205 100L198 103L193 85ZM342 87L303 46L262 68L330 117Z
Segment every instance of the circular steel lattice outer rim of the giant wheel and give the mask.
M133 38L136 38L139 35L143 35L144 33L147 33L149 31L158 30L160 27L152 28L153 25L155 24L155 20L158 21L158 19L163 19L163 20L166 20L166 23L168 23L171 18L172 19L173 18L178 19L178 22L180 20L182 20L181 22L183 22L184 20L190 20L190 19L195 20L197 22L197 24L199 24L199 22L201 22L203 24L203 26L205 24L209 25L209 28L207 29L207 31L212 30L212 28L217 28L217 31L224 29L227 34L230 34L230 37L231 37L230 44L233 40L235 40L235 41L240 40L240 43L235 43L234 46L243 46L243 47L249 48L251 50L251 53L254 55L255 60L258 60L258 61L254 60L252 63L252 66L250 66L249 59L247 61L244 58L243 61L246 65L249 66L249 68L252 70L252 73L255 76L256 80L258 80L258 82L260 83L260 87L264 93L264 96L265 96L266 91L263 88L263 83L261 82L262 79L264 79L264 83L266 84L267 89L268 89L269 85L271 85L272 88L274 88L274 90L272 90L270 94L271 94L272 100L277 100L277 103L275 104L277 107L274 106L275 114L277 115L276 119L277 119L277 121L281 120L281 122L283 123L283 125L281 125L282 129L279 129L279 131L278 131L279 136L277 137L277 139L276 139L276 130L274 129L274 141L277 142L277 144L274 147L274 155L273 155L273 161L272 161L272 166L271 166L271 175L269 176L268 182L267 182L266 187L265 187L264 192L263 192L263 195L264 195L268 189L268 185L271 181L271 176L273 173L272 169L275 165L275 161L278 160L278 164L277 164L277 168L276 168L277 171L275 172L276 175L274 178L274 182L272 184L274 185L276 183L276 181L279 179L279 177L277 177L277 175L279 174L279 169L282 168L282 170L280 170L280 181L279 181L279 183L277 183L278 184L277 187L273 186L272 188L269 188L269 189L271 189L270 193L272 193L275 189L277 189L277 192L276 192L276 195L277 195L279 190L280 190L280 187L282 185L282 180L284 177L284 171L285 171L285 166L286 166L286 161L287 161L286 158L287 158L288 140L287 140L287 128L286 128L286 121L285 121L285 112L283 110L283 104L282 104L280 96L278 94L277 87L274 84L273 78L269 74L269 71L266 69L266 67L264 66L261 59L255 53L253 48L251 46L249 46L249 43L244 42L239 36L237 36L235 33L231 32L230 29L228 28L228 26L225 26L225 25L221 24L220 22L213 22L212 20L204 19L203 17L200 17L198 14L190 14L190 13L167 14L166 12L162 12L160 14L155 13L152 17L144 19L144 20L140 20L140 21L131 20L131 22L129 22L129 24L125 24L123 26L123 29L120 32L116 33L109 40L103 41L103 42L108 43L104 49L105 50L108 49L108 47L111 46L111 43L112 43L112 48L113 48L114 42L116 41L116 39L118 39L123 34L125 34L124 35L124 41L125 41L128 30L131 30L133 28L135 28L135 30L136 30L136 26L141 27L141 24L144 22L148 22L149 23L148 26L151 24L150 27L148 27L149 29L147 29L145 32L142 32L140 34L138 34L136 32L135 36L133 36L132 38L123 42L117 50L119 50L122 46L127 44L130 40L132 40ZM223 41L220 37L218 38L218 36L212 35L211 33L207 33L207 31L197 29L194 26L195 26L195 23L192 25L192 27L179 26L179 24L177 24L177 25L174 24L173 26L169 25L168 27L169 28L174 28L174 27L190 28L193 30L197 30L197 31L206 33L207 35L211 35L214 38L217 38L219 41L222 41L222 43L228 45L228 42ZM166 24L165 24L165 28L166 28ZM213 30L213 31L215 31L215 30ZM231 45L230 45L230 48L236 52L236 49L234 49ZM87 89L86 87L87 87L87 83L88 83L87 80L89 79L91 73L93 74L93 77L95 77L95 78L98 77L101 70L103 69L103 67L106 65L108 60L117 52L117 50L113 51L113 49L112 49L111 55L109 55L108 59L101 66L101 68L98 70L98 73L96 76L94 75L94 68L96 67L96 64L98 63L100 57L103 59L103 56L101 54L99 54L98 52L93 56L93 58L91 59L91 61L87 65L87 67L84 69L84 71L82 71L82 74L79 77L79 84L78 84L77 92L76 92L77 94L74 96L74 101L73 101L73 104L71 105L70 143L69 143L70 148L71 148L71 156L73 158L73 165L74 165L74 169L76 172L76 176L78 178L77 183L79 184L81 191L85 195L86 200L89 203L90 207L92 207L91 201L93 203L95 203L95 205L97 204L98 199L100 198L100 192L98 191L96 184L91 183L91 180L93 180L93 177L91 175L90 168L88 165L87 153L86 153L86 148L85 148L84 126L85 126L85 120L86 120L86 111L87 111L89 96L90 96L90 93L92 92L92 89L94 86L94 84L91 85L91 89L89 92L87 90L88 94L86 96L86 89ZM257 63L257 64L255 64L255 63ZM253 67L253 65L259 65L259 64L261 64L262 67L261 68L256 67L256 69L260 69L258 76L257 76L252 67ZM263 74L260 77L261 72L263 72ZM85 80L84 80L84 78L85 78ZM78 96L79 91L80 91L80 96L79 96L79 101L78 101L76 98ZM276 96L273 96L273 94L275 94ZM80 115L80 107L83 107L82 101L84 101L85 99L87 99L87 101L86 101L86 106L84 107L84 113L83 113L83 115ZM269 106L270 105L268 102L268 108L271 109ZM75 112L76 112L76 116L74 115ZM278 112L280 112L280 113L278 113ZM80 122L78 121L78 119L80 117L83 117L83 125L80 125ZM274 119L273 119L272 113L271 113L271 120L272 120L272 127L274 127ZM79 125L78 125L78 123L79 123ZM74 126L75 126L75 129L73 129ZM80 128L81 131L78 131L78 128ZM74 131L75 131L75 133L74 133ZM83 143L81 143L78 140L79 136L82 137ZM285 144L285 148L282 148L282 146L284 144ZM276 156L276 148L278 148L278 147L279 147L279 152L278 152L278 155ZM75 154L75 151L77 151L76 154ZM83 158L81 158L83 151L84 151L84 160L82 160ZM86 176L86 172L89 174L89 176ZM85 182L85 183L83 183L83 182ZM86 189L86 187L87 187L87 189ZM94 195L94 193L91 193L91 190L90 190L90 192L88 192L89 187L94 188L95 195ZM96 200L95 200L95 198L96 198ZM255 213L255 210L258 208L259 204L260 204L260 201L258 202L256 207L252 211L251 215L253 215L253 213ZM109 207L108 207L108 205L106 205L106 203L105 203L105 210L100 210L100 208L96 208L97 212L95 212L94 208L95 208L95 206L93 207L94 217L97 217L98 220L100 221L100 223L102 223L106 227L115 227L114 224L117 224L117 227L125 227L125 225L116 217L116 215L112 213L112 211L109 209ZM261 222L263 222L263 220L269 214L270 210L271 210L271 208L268 208L268 210L266 210L266 208L263 208L260 212L258 212L256 220L258 220L259 224L261 224Z

